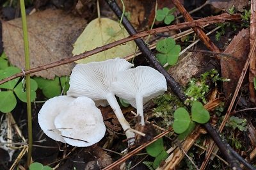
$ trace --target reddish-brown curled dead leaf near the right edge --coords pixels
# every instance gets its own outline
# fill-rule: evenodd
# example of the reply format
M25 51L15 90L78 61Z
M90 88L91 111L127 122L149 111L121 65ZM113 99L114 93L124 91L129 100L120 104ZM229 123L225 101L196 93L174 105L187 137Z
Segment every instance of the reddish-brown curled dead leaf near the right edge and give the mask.
M249 29L240 31L223 52L230 54L232 58L221 57L221 76L230 79L229 82L223 82L223 91L227 97L234 93L243 70L250 47L249 36Z

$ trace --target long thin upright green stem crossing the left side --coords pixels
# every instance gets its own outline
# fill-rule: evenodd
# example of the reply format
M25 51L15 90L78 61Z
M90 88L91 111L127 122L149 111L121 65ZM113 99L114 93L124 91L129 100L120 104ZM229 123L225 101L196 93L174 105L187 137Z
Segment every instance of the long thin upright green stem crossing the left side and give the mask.
M22 18L22 30L23 30L23 40L24 40L24 51L25 51L25 69L30 69L29 63L29 43L28 43L28 29L26 22L26 11L25 11L25 3L24 0L20 0L20 12ZM27 112L28 112L28 167L31 162L32 155L32 144L33 144L33 136L32 136L32 116L31 116L31 102L30 102L30 75L26 75L26 95L27 95Z

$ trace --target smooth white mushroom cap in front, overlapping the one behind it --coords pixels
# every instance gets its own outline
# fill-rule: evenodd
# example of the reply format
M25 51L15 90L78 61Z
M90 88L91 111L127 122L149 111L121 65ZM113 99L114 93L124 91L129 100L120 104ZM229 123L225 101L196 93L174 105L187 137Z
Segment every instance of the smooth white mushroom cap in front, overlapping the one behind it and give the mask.
M54 124L66 143L72 146L91 146L102 139L106 127L100 110L88 97L78 97L56 116Z

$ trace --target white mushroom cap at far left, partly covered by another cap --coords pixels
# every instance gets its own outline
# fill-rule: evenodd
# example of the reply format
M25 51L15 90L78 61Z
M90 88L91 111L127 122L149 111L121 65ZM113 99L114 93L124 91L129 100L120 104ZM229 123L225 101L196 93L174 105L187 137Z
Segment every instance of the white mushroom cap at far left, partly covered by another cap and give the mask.
M65 143L64 138L61 137L60 130L56 129L54 125L54 120L62 110L66 109L68 103L72 102L73 100L74 98L67 96L50 98L45 102L39 111L38 123L44 133L48 137L51 137L51 139Z

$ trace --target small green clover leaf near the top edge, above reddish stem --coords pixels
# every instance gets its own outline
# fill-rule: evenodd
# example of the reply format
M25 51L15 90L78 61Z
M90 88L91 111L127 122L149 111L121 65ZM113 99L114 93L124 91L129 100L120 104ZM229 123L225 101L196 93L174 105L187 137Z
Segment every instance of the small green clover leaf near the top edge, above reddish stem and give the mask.
M164 7L162 10L157 10L156 12L156 20L157 21L164 21L164 24L168 25L175 19L173 12L175 12L175 8L171 10L169 8Z

